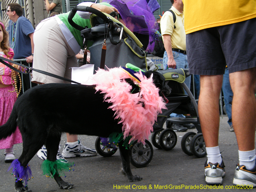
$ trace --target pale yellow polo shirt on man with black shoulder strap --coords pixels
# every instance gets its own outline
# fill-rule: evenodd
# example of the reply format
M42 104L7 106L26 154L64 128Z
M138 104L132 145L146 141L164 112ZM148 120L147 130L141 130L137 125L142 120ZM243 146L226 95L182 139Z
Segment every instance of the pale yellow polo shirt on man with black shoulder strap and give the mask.
M171 35L172 48L186 51L186 34L184 29L184 14L180 13L175 7L171 10L176 15L176 22L174 29L173 15L167 11L160 20L161 34Z

